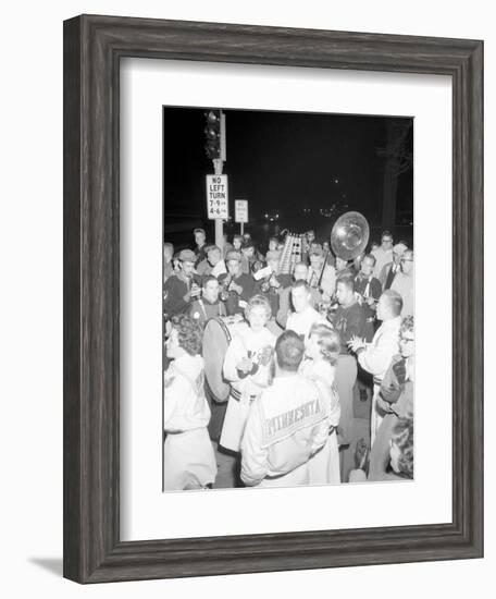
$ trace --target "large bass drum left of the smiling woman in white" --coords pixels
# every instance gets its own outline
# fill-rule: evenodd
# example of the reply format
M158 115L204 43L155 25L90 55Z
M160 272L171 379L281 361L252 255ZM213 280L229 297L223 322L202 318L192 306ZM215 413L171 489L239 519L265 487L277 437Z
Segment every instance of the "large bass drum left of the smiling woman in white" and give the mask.
M243 327L248 325L241 316L211 318L204 326L202 345L204 376L209 390L218 403L225 403L230 399L231 386L224 379L222 367L233 334Z

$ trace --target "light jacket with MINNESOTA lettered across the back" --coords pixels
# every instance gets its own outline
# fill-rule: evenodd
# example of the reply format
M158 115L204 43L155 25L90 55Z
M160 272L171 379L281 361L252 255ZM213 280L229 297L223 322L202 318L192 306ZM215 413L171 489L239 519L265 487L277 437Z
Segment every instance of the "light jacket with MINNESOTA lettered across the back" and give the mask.
M255 401L241 441L241 480L248 486L308 485L309 460L326 442L328 417L315 383L276 377Z

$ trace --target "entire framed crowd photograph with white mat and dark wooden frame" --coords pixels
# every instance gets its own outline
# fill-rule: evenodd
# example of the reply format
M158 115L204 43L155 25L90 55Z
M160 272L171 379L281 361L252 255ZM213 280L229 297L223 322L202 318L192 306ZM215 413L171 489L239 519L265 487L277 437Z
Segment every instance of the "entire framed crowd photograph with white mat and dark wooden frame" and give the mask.
M65 577L482 557L482 83L476 40L64 23Z

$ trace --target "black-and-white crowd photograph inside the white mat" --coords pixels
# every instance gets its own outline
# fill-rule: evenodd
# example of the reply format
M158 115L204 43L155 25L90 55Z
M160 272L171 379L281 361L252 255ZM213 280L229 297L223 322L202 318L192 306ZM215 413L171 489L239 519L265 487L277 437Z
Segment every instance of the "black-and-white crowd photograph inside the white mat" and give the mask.
M164 492L414 478L413 129L163 107Z

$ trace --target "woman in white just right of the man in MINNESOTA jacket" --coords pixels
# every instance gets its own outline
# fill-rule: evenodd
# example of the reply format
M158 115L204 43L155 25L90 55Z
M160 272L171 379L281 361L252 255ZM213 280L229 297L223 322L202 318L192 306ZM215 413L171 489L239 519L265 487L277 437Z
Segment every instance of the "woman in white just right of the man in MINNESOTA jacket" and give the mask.
M321 392L328 416L328 436L324 447L309 461L311 485L337 485L340 482L337 425L340 405L335 388L336 364L339 355L339 334L326 325L313 325L305 343L306 359L300 374L312 380Z

